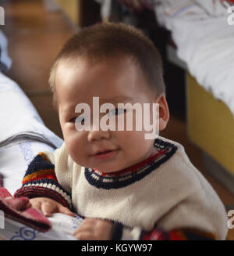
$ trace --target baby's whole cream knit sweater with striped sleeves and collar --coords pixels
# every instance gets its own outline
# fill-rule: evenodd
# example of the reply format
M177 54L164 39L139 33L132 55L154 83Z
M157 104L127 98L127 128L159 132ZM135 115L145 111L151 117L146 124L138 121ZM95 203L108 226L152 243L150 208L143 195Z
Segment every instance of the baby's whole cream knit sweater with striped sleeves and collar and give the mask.
M51 197L84 218L108 219L113 239L224 240L225 207L183 146L159 137L154 147L153 157L102 173L76 164L63 144L35 157L15 197Z

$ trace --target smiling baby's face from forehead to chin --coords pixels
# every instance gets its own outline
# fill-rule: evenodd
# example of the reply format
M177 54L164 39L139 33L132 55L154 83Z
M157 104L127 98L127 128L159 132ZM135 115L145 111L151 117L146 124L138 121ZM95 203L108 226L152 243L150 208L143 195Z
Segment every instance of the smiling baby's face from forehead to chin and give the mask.
M140 69L127 57L92 64L87 59L76 62L61 63L55 78L58 99L58 115L62 133L70 157L87 168L96 168L103 172L119 171L151 157L154 139L144 139L142 131L135 131L133 111L133 131L118 131L118 103L153 103L154 96L144 81ZM115 131L102 131L100 127L92 128L93 97L99 97L99 105L112 103L115 110ZM90 131L77 131L75 113L78 103L90 106ZM98 110L97 110L98 111ZM99 112L99 111L98 111ZM101 118L106 113L99 114ZM124 117L126 121L126 117ZM82 119L80 119L81 123Z

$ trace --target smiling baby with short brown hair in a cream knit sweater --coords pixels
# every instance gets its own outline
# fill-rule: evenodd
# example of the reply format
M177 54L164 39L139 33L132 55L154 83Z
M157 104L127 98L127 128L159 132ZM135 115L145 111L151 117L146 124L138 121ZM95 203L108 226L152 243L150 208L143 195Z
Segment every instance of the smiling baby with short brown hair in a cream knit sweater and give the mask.
M225 208L179 143L145 139L137 117L133 131L100 129L95 117L77 131L89 117L76 105L92 106L94 97L115 106L117 122L127 112L119 103L157 103L158 128L166 127L161 58L144 34L122 23L83 29L59 53L50 85L65 143L35 157L16 197L46 215L74 208L85 218L79 240L225 239Z

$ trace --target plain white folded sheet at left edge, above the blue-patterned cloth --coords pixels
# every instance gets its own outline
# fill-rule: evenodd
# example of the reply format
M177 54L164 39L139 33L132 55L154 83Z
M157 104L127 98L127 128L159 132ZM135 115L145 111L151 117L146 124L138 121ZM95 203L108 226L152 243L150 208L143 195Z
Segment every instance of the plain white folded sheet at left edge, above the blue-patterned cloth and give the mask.
M62 139L45 127L30 99L16 82L0 73L0 146L14 139L37 139L57 148Z

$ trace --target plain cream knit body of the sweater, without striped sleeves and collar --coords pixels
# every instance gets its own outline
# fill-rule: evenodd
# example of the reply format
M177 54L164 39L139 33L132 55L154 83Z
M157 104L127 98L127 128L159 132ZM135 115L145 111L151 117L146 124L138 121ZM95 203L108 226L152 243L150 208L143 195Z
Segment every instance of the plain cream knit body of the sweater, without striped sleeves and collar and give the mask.
M217 193L191 164L183 146L162 137L159 141L176 146L176 152L143 178L111 189L88 181L87 173L92 169L76 164L65 144L46 155L55 164L58 182L71 193L78 215L110 219L135 231L151 231L155 224L167 231L199 229L224 240L228 219ZM140 172L144 173L144 169ZM95 183L98 173L91 175ZM113 182L112 177L103 178L105 182Z

